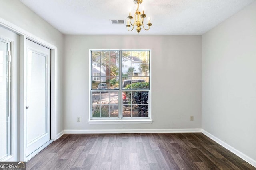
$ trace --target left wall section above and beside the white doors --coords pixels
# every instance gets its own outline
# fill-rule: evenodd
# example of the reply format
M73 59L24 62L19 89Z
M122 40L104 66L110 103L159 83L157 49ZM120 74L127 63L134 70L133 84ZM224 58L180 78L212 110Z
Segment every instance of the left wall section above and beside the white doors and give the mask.
M57 47L57 133L63 130L62 72L64 35L18 0L0 0L0 17Z

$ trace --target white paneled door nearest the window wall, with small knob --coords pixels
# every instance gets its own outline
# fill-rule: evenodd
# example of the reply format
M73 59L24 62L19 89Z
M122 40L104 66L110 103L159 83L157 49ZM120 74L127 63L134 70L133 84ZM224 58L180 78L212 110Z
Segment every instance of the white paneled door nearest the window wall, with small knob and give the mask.
M50 53L26 39L26 157L50 141Z

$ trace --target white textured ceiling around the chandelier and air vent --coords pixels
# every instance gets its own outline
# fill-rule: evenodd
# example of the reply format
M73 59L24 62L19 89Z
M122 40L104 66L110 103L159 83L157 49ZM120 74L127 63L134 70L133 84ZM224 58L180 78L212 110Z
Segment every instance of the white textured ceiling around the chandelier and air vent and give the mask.
M109 19L135 12L133 0L20 0L64 34L136 35ZM150 31L140 35L202 35L255 0L143 0Z

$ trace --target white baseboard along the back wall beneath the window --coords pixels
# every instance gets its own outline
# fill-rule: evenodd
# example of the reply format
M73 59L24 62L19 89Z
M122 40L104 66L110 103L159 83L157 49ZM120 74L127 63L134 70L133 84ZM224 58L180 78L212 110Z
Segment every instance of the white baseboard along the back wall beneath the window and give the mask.
M100 133L199 133L201 129L100 129L100 130L64 130L65 134Z

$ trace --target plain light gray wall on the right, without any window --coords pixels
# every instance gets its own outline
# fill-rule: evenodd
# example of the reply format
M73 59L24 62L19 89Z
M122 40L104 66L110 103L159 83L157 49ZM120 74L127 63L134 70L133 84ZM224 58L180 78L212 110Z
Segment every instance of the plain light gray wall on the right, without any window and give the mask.
M256 2L202 35L202 129L256 160Z

